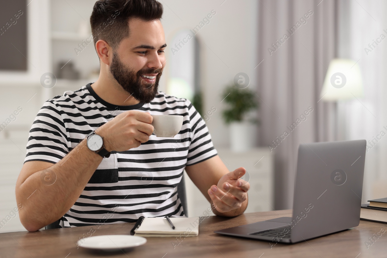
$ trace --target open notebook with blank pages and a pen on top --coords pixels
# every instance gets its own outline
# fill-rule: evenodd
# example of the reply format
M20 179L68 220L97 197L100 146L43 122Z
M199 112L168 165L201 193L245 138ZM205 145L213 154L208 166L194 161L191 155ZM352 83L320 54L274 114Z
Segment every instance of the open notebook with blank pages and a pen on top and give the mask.
M197 236L199 234L199 217L170 219L175 229L172 229L165 217L145 218L135 231L135 236Z

